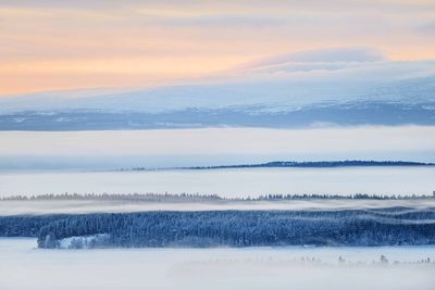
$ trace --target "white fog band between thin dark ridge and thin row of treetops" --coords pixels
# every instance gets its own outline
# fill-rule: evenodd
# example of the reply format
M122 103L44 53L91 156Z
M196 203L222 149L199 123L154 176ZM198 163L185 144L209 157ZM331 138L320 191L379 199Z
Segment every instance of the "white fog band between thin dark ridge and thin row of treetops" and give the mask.
M432 194L435 167L0 173L0 197L41 193Z

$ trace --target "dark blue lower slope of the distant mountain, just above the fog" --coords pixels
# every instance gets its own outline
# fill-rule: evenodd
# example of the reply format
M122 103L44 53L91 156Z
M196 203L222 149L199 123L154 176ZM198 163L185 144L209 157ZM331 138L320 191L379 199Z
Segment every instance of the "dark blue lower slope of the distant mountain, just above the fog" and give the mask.
M17 98L18 99L18 98ZM108 101L109 102L109 101ZM86 105L86 104L84 104ZM313 103L298 109L266 104L188 108L163 112L115 110L1 113L0 130L122 130L179 128L306 128L327 126L435 125L435 102L353 101ZM119 105L123 108L123 104ZM139 108L139 104L138 104Z

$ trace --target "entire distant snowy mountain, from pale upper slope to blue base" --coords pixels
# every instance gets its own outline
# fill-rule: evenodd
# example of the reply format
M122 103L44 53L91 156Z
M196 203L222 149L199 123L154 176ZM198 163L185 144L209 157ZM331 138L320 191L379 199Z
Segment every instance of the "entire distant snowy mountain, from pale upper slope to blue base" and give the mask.
M303 80L294 76L276 79L276 72L270 75L256 68L248 70L256 81L243 74L238 81L4 97L0 98L0 130L433 126L435 75L431 72L435 62L421 65L431 67L422 77L410 77L421 74L415 64L393 62L371 66L372 73L363 65L364 73L350 79L346 65L333 71L320 66L325 77ZM293 68L284 64L279 72L287 74ZM407 73L387 77L390 72Z

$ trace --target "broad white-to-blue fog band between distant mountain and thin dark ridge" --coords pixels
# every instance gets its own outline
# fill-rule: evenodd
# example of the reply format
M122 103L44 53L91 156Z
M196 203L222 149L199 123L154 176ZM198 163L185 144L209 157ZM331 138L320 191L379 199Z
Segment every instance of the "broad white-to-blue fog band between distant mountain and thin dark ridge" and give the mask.
M0 131L0 171L102 171L322 160L435 162L435 127Z

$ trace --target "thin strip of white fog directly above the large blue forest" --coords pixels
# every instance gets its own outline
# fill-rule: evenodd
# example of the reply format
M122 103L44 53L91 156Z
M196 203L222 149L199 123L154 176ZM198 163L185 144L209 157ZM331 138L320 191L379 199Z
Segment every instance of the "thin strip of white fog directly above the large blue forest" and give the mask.
M26 214L128 213L145 211L225 210L372 210L408 207L435 209L435 199L419 200L291 200L291 201L202 201L159 202L140 200L0 200L0 216Z

